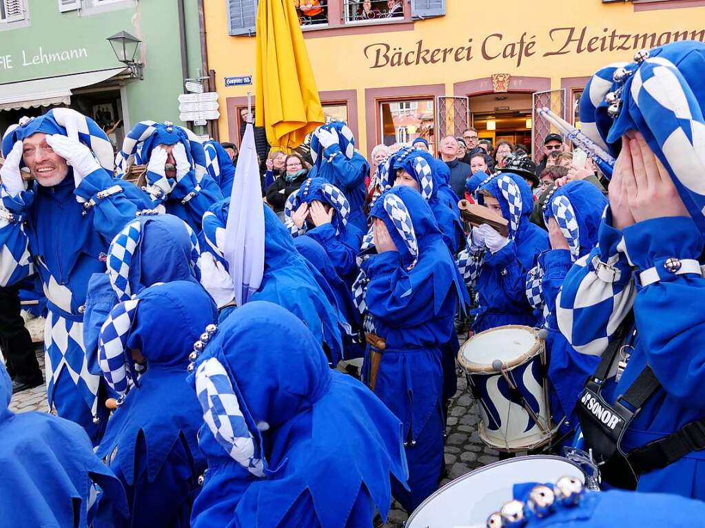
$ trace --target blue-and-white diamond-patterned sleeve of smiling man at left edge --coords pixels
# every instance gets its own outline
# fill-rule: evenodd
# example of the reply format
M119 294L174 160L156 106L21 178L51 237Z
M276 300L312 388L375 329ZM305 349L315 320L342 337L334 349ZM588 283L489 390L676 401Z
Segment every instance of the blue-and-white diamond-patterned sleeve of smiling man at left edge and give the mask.
M23 191L13 198L0 184L0 196L0 286L9 286L34 273L24 224L34 193Z

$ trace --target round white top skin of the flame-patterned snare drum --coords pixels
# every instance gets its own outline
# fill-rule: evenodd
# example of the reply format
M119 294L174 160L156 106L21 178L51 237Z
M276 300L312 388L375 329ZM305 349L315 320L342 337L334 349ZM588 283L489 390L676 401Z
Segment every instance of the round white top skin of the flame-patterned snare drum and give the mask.
M458 360L470 372L494 371L493 361L501 360L505 367L517 365L536 345L537 337L531 327L497 327L474 335L460 349Z

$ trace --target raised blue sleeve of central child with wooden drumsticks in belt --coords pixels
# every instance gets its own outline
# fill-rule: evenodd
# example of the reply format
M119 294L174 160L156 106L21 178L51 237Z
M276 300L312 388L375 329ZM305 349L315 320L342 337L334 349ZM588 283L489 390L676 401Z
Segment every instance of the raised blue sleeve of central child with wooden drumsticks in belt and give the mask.
M363 268L369 277L367 308L385 325L415 326L418 321L435 317L433 280L415 280L405 270L398 251L372 256Z

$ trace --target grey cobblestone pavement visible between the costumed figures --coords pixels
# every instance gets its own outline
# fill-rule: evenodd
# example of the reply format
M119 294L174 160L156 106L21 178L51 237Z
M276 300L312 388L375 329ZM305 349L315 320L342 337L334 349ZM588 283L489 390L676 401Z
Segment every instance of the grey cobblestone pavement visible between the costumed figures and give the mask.
M44 353L37 346L39 366L44 370ZM14 394L10 403L11 410L23 412L26 410L47 411L47 391L45 386ZM498 452L486 447L477 434L477 405L466 390L464 375L458 375L458 392L450 403L448 416L448 438L446 439L446 467L448 478L441 485L447 484L461 475L471 472L482 465L498 460ZM384 528L401 528L407 520L407 515L400 505L394 503Z

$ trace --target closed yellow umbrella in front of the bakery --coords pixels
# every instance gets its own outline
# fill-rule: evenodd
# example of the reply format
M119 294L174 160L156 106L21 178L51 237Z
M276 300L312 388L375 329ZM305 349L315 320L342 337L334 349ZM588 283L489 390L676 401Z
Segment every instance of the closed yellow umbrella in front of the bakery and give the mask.
M290 152L326 122L291 0L259 0L256 83L256 124L273 148Z

